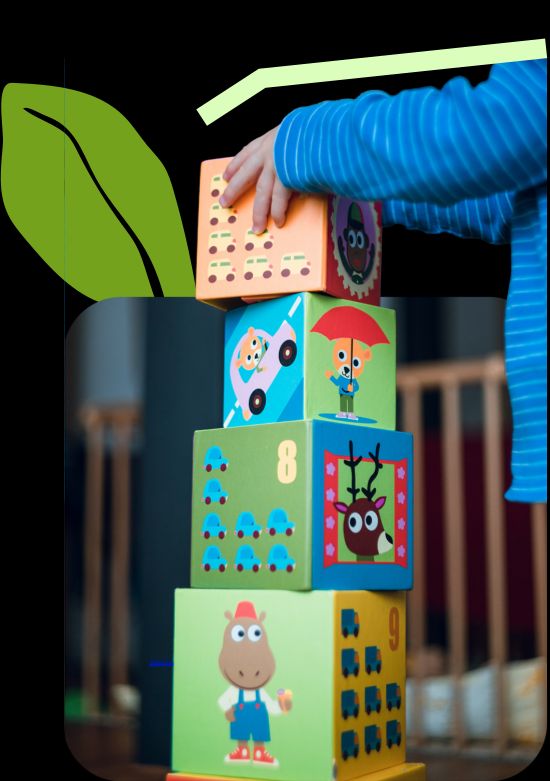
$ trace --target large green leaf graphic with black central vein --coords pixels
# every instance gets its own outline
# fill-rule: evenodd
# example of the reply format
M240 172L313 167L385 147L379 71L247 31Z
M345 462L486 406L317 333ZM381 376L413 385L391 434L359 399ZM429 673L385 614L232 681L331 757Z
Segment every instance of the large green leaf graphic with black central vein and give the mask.
M89 298L192 296L166 169L116 109L37 84L2 94L2 196L29 244Z

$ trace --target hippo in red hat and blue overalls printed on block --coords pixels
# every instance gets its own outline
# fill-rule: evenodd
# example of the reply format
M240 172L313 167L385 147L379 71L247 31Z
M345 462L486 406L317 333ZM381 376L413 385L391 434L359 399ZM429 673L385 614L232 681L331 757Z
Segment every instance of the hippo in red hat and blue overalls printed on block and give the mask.
M239 602L235 615L226 611L225 617L229 623L223 635L219 665L231 686L219 698L218 705L231 724L231 740L237 741L237 748L225 761L278 767L279 762L265 748L271 740L269 715L287 713L292 707L292 693L280 689L274 700L263 688L275 673L275 659L264 627L266 614L262 612L258 617L252 602ZM254 743L252 752L250 739Z

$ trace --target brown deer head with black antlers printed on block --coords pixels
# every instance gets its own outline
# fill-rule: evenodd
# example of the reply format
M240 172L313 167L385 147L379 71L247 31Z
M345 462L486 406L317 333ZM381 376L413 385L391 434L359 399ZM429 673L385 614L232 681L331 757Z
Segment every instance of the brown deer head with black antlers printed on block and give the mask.
M383 469L380 463L380 442L377 443L374 453L369 453L372 458L374 471L369 478L366 488L356 487L355 470L363 460L362 456L353 456L353 442L349 441L349 459L344 464L351 469L351 486L347 488L351 494L352 503L334 502L339 513L344 513L344 540L346 546L352 552L367 561L373 561L380 553L385 553L393 547L393 538L384 530L380 510L386 503L386 497L380 496L374 499L376 488L374 481L378 473ZM359 493L364 498L357 498Z

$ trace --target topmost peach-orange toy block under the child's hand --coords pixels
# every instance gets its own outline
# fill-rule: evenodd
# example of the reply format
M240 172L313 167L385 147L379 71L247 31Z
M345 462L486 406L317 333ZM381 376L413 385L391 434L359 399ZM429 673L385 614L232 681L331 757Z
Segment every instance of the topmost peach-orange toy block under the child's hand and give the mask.
M339 196L297 195L285 225L269 219L252 231L251 189L232 208L219 199L231 158L201 166L196 296L231 308L239 299L304 290L380 303L382 220L379 203Z

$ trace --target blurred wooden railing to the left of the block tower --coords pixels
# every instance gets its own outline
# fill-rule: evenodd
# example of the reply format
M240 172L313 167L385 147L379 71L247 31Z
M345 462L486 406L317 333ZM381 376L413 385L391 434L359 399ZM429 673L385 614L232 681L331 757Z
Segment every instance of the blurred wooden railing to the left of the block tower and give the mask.
M103 539L111 535L109 603L108 710L116 714L114 687L128 683L130 452L140 423L135 406L86 406L80 411L86 436L84 508L84 609L82 686L87 715L101 707ZM111 509L104 510L107 448L111 454Z

